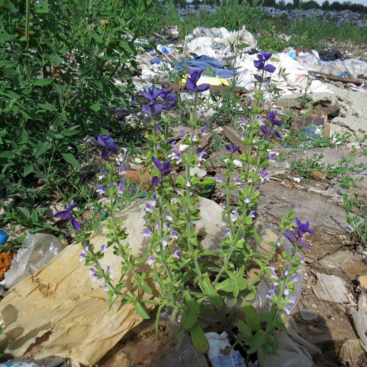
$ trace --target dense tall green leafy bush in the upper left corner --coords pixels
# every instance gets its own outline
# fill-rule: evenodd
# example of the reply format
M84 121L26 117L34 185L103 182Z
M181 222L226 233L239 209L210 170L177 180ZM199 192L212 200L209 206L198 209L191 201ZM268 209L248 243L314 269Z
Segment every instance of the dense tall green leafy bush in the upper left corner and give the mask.
M81 139L127 103L152 0L5 1L0 13L0 196L34 207L81 169ZM131 66L131 67L130 67ZM126 81L115 85L115 79ZM39 186L40 188L36 188Z

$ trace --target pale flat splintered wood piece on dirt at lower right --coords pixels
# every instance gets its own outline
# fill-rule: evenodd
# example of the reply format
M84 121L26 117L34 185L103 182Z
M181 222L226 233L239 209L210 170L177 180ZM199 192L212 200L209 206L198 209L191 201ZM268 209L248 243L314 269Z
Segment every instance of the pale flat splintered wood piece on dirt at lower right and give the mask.
M346 289L342 278L335 275L316 273L317 283L312 286L317 299L326 302L355 305L352 294Z

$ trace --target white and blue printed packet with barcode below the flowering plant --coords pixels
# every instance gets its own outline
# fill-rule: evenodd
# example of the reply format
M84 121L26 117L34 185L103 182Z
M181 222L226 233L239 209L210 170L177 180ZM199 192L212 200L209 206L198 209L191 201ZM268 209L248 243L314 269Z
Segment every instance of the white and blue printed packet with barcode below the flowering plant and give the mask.
M228 334L205 333L209 343L208 358L212 367L246 367L240 352L231 348ZM225 351L228 349L229 353Z

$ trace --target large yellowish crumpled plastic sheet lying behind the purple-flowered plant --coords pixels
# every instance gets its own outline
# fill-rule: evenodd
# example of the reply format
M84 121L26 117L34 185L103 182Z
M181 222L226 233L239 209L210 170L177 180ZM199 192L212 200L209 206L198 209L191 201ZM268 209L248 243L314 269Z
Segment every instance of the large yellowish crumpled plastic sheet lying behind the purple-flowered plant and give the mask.
M148 239L142 239L144 228L144 204L133 203L119 213L118 219L124 221L129 233L126 240L130 243L135 257L148 251ZM198 203L201 219L195 222L199 235L203 237L201 246L215 248L227 237L228 222L222 220L222 207L214 201L202 198ZM258 225L261 226L261 225ZM276 233L266 225L259 228L262 248L276 239ZM108 230L101 225L91 242L98 249L106 244ZM264 235L272 233L272 237ZM269 246L269 245L268 245ZM266 251L266 250L265 250ZM101 281L92 282L88 267L79 261L80 244L72 244L52 259L33 276L12 287L0 302L1 326L0 348L5 353L22 356L36 338L51 335L41 343L42 352L38 358L50 355L69 357L72 361L87 366L96 363L110 350L123 335L141 322L131 304L121 304L118 300L108 311L108 295L103 292ZM121 270L120 258L112 251L105 252L101 265ZM141 264L143 271L150 271ZM297 282L302 285L302 280ZM137 294L131 283L123 291ZM262 299L267 299L269 286L264 286ZM260 292L260 290L259 290ZM137 294L143 298L143 294ZM148 295L149 297L149 295Z

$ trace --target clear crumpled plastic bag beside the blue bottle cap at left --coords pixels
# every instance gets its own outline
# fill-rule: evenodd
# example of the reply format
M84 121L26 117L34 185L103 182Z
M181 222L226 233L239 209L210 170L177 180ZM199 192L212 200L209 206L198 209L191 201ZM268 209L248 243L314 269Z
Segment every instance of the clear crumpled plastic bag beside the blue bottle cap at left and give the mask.
M10 289L19 281L33 274L47 264L65 246L52 235L36 233L27 235L23 247L11 261L10 269L5 273L5 286Z

